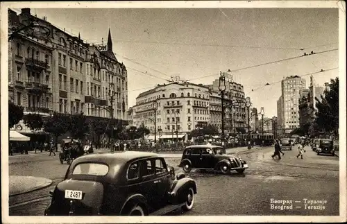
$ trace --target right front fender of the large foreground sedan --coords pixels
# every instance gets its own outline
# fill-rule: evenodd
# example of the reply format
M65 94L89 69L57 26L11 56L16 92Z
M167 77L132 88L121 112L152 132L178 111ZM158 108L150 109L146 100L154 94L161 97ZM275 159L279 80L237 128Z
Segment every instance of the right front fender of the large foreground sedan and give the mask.
M192 178L182 178L177 180L176 184L173 186L169 192L169 202L172 204L184 203L186 200L186 192L189 187L193 188L194 193L197 193L196 182Z

